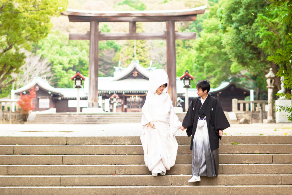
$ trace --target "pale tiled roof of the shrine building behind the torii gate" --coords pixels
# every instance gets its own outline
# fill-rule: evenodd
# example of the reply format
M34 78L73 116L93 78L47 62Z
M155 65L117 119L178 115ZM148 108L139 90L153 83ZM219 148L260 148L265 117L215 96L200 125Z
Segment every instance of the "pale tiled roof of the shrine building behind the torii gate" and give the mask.
M139 71L145 79L123 79L126 75L132 74L134 68ZM119 69L117 71L117 69ZM98 78L98 92L99 93L146 93L149 89L148 78L151 75L151 72L155 68L143 68L139 65L139 61L132 61L131 64L126 68L117 68L114 77L99 77ZM86 97L88 94L88 77L85 77L84 88L80 89L80 97ZM40 87L44 88L47 91L60 94L63 97L76 97L77 89L75 88L54 88L48 84L48 82L41 77L34 77L32 82L21 87L20 89L15 90L15 93L23 92L29 90L35 84L39 84ZM231 82L222 82L219 87L210 89L210 93L218 92L223 90L232 84ZM180 80L179 77L176 78L176 91L177 94L185 96L186 88L183 87L183 80ZM248 90L248 89L244 89ZM188 89L189 97L197 97L197 89L190 88Z

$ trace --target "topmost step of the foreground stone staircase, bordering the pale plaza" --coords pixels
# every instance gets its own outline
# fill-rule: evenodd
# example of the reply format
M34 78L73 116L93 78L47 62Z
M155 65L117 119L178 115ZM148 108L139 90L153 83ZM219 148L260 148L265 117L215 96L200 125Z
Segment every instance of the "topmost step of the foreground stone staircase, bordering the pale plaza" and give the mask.
M108 140L112 141L108 141ZM190 137L176 136L179 143L189 144ZM222 144L238 142L239 145L247 144L292 144L292 136L225 136L220 141ZM132 145L140 144L140 136L0 136L1 145L92 145L115 144Z

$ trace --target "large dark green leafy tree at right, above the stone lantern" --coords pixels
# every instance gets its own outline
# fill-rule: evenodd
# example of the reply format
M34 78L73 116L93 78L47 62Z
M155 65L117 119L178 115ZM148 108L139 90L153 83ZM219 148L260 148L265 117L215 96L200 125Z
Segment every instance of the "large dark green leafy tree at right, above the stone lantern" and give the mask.
M256 84L257 99L259 94L267 93L265 77L269 68L276 73L279 67L267 61L267 51L260 47L263 42L256 32L259 30L258 15L265 13L266 1L223 0L220 1L218 17L223 30L223 44L232 60L231 70L253 79ZM280 79L275 78L275 85L281 89Z

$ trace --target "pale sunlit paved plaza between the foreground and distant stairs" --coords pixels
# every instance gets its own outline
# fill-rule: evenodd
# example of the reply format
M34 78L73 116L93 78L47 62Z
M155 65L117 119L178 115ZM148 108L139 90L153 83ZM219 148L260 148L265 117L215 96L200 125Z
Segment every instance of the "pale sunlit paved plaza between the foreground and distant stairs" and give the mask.
M140 123L104 125L0 124L0 136L138 136ZM292 123L232 124L226 135L292 135ZM178 130L176 135L186 135Z

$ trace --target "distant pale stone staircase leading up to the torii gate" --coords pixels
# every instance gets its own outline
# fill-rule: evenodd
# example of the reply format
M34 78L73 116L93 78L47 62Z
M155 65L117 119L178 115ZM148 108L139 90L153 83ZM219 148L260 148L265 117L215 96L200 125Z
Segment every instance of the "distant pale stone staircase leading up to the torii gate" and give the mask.
M181 121L185 113L177 113ZM26 124L109 124L109 123L140 123L142 113L36 113L34 121Z

